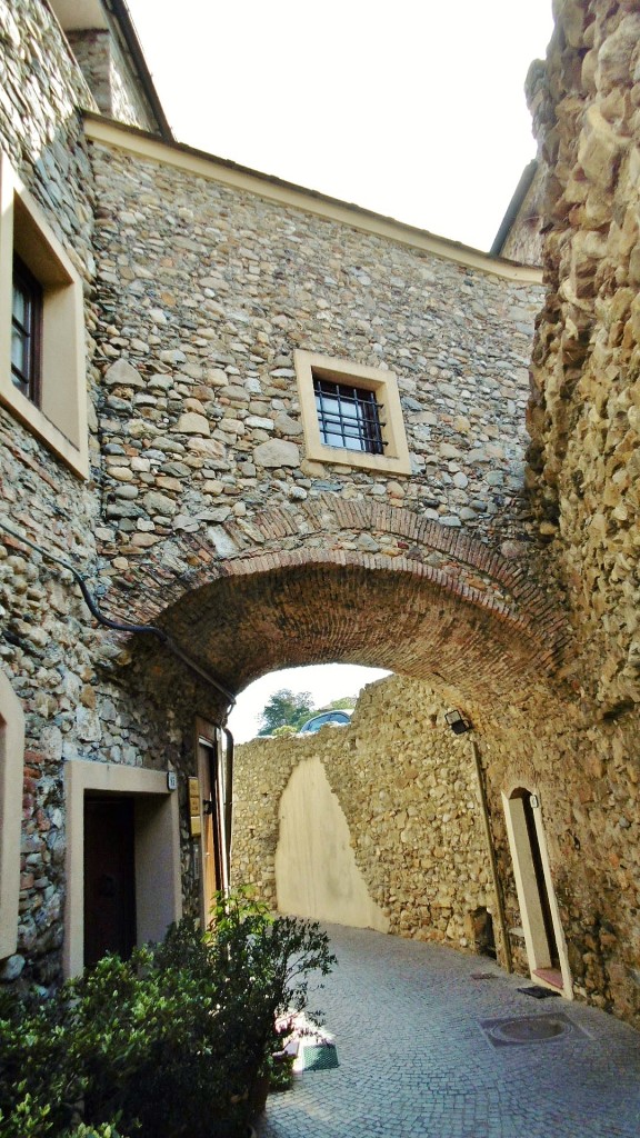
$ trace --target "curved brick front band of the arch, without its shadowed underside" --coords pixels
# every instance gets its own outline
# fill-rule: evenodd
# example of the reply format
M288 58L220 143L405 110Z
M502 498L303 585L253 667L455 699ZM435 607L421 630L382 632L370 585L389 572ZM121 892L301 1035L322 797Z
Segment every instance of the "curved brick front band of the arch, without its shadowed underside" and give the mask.
M503 558L462 529L441 526L410 510L325 494L212 529L214 539L202 531L182 533L143 553L130 549L126 572L112 570L114 605L122 589L137 619L155 620L191 588L245 572L239 568L245 562L273 568L280 563L280 554L314 556L319 542L323 551L350 553L352 538L367 535L369 539L377 536L383 549L372 562L364 559L362 563L404 569L410 562L411 570L420 564L436 568L469 588L471 596L477 591L486 593L487 600L517 608L525 619L538 624L543 638L551 635L553 644L561 636L564 616L526 566Z

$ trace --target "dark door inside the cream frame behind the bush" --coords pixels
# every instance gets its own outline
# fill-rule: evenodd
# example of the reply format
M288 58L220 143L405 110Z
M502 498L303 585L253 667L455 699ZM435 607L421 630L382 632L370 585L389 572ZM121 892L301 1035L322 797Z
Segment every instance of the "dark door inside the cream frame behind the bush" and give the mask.
M84 802L84 964L105 953L131 956L136 945L133 800Z

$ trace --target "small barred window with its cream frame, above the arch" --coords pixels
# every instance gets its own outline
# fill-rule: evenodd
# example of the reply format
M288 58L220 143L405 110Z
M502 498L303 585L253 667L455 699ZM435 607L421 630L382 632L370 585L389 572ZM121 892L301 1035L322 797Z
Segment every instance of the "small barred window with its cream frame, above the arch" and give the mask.
M411 472L393 372L303 351L294 362L307 459Z

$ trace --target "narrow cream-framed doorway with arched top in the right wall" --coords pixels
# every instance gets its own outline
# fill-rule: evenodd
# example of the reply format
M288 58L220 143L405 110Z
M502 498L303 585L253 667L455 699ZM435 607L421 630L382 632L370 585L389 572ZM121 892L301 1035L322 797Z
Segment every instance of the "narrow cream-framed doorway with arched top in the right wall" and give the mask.
M540 798L518 786L509 798L502 795L502 800L531 975L542 987L571 997L572 980Z

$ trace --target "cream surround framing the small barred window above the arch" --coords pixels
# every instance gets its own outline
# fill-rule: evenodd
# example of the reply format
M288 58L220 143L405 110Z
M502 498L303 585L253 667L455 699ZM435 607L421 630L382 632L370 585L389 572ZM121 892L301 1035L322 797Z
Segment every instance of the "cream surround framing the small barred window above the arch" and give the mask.
M392 475L410 475L411 461L400 404L397 379L394 372L381 368L336 360L333 356L296 349L294 365L297 377L301 417L304 428L306 457L314 462L340 467L359 467ZM380 434L384 453L329 446L322 442L314 379L371 391L379 409L384 409Z

